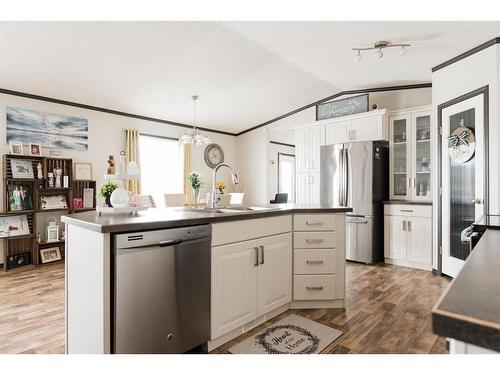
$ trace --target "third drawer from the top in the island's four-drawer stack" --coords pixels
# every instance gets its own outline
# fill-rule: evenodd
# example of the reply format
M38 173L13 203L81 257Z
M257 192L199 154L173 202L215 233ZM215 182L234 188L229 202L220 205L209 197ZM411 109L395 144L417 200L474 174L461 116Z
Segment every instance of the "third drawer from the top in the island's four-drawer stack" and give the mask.
M293 254L295 275L335 273L335 250L297 249Z

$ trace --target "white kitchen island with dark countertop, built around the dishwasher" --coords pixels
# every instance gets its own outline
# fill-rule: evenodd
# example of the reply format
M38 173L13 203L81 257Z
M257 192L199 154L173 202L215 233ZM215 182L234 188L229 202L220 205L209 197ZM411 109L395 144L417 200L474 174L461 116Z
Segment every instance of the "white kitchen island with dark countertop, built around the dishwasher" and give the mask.
M117 298L127 298L127 293L117 290L120 235L132 243L153 231L194 228L186 232L192 235L209 226L210 261L206 263L210 264L206 264L209 277L205 283L210 286L208 350L290 308L343 308L345 213L350 211L328 205L284 204L212 212L170 208L150 209L137 216L98 216L95 212L64 216L66 352L130 352L117 346L117 335L123 331L116 323L121 311L117 311ZM154 273L158 264L150 267ZM140 265L128 270L127 306L136 308L135 300L143 302L142 295L134 297L134 290L149 275L139 272ZM161 295L155 298L158 304L163 302ZM149 311L151 306L142 309ZM172 342L176 339L175 335L166 337Z

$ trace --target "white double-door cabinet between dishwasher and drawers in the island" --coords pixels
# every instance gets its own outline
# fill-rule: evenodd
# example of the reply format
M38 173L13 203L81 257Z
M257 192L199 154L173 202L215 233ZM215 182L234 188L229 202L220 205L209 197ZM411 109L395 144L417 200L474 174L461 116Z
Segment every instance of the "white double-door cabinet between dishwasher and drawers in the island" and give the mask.
M291 296L291 233L212 248L212 340L289 303Z

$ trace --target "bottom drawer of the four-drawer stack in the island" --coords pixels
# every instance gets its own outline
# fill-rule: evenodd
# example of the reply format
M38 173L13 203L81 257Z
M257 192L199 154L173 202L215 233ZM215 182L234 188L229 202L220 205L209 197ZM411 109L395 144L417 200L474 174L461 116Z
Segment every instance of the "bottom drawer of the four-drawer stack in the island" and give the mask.
M335 275L297 275L293 277L294 300L335 299Z

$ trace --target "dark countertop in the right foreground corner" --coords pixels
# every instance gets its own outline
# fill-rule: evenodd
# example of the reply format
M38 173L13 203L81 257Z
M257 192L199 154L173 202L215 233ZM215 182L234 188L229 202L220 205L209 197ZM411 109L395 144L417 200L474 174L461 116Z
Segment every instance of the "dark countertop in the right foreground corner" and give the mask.
M500 351L500 230L488 229L432 310L434 333Z

